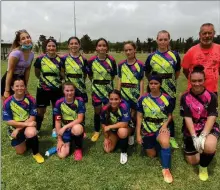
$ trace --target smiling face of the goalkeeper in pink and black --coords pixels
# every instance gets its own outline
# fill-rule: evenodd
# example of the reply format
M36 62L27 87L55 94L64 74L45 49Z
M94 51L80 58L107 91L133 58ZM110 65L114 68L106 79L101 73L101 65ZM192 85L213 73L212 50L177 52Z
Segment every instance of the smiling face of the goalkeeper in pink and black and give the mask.
M204 90L205 77L203 73L195 72L190 75L190 83L192 85L192 91L195 94L200 94Z

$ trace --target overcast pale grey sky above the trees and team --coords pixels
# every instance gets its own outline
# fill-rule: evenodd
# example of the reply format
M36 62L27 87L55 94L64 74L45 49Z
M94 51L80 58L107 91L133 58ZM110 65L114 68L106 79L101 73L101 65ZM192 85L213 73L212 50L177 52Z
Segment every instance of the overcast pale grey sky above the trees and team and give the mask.
M220 1L76 1L76 35L112 42L155 38L168 30L171 38L198 37L205 22L220 34ZM73 1L2 1L1 39L12 41L15 31L27 29L37 41L39 35L66 41L74 33Z

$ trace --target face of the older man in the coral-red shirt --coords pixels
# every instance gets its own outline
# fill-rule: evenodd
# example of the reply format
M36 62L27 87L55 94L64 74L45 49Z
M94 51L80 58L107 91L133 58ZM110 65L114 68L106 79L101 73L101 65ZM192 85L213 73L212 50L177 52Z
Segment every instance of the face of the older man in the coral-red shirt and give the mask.
M203 47L210 47L215 36L215 30L212 25L204 25L199 32L200 43Z

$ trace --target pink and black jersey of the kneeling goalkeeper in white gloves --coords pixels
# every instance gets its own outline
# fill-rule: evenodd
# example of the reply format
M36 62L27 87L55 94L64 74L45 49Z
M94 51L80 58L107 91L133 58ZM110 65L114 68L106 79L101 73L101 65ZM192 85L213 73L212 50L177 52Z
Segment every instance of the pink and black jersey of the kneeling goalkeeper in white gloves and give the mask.
M180 115L192 118L195 131L198 133L204 129L207 117L218 116L217 108L217 97L214 93L204 90L202 94L195 95L190 90L181 97ZM185 122L183 122L183 127L184 135L190 136ZM218 128L218 124L215 123L213 127Z

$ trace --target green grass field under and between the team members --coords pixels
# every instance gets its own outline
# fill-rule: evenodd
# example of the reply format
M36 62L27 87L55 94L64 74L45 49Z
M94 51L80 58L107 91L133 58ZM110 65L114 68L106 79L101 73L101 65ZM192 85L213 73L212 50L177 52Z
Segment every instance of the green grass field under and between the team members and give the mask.
M123 54L113 54L115 59L124 59ZM139 54L137 58L146 60L147 55ZM6 70L7 64L1 62L1 73ZM32 67L29 92L35 97L37 79ZM186 89L186 79L181 74L178 79L177 106L174 112L176 124L176 138L182 147L181 125L179 116L179 97ZM172 174L174 182L163 182L159 159L150 159L141 153L141 147L135 144L129 147L128 162L126 165L119 163L119 150L111 154L103 151L103 136L96 143L90 141L93 132L93 109L91 106L91 83L87 81L89 102L86 105L86 131L84 142L84 157L81 162L75 162L72 155L61 160L56 155L45 159L42 165L37 164L28 151L23 156L15 154L10 146L6 125L2 123L1 130L1 171L2 189L7 190L68 190L68 189L148 189L148 190L219 190L220 189L220 151L217 151L214 160L209 166L209 180L202 182L198 178L198 168L188 165L184 161L182 149L172 152ZM56 144L51 137L52 121L51 107L48 107L40 133L40 152ZM220 145L218 144L218 150Z

